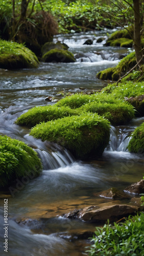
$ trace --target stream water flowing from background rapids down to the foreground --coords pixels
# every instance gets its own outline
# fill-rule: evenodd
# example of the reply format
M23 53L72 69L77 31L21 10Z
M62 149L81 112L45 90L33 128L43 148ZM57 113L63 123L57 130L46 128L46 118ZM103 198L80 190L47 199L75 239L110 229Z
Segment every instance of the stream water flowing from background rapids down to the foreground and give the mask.
M112 186L124 189L143 175L143 156L127 151L129 135L144 118L135 118L128 125L111 127L109 146L98 160L75 161L73 156L54 143L41 142L28 135L29 130L14 121L35 105L54 104L47 96L60 99L61 93L90 92L102 89L105 81L96 74L116 66L127 49L105 47L107 31L57 35L77 58L75 63L41 63L38 69L1 70L0 134L24 141L32 146L43 162L43 172L33 179L17 181L11 195L1 191L1 255L4 252L4 198L8 198L8 255L10 256L73 256L87 255L88 241L76 239L76 233L94 231L94 223L63 218L74 208L110 202L95 194ZM97 39L103 37L101 43ZM83 45L87 39L93 45ZM6 193L6 195L5 195ZM114 201L115 202L115 201ZM124 201L129 203L129 201ZM75 238L71 239L71 234Z

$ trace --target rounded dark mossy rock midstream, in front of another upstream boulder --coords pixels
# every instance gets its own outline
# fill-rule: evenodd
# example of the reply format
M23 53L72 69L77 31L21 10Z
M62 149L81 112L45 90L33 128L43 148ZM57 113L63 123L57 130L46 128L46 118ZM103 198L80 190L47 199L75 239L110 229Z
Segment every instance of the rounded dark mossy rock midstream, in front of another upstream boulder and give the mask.
M52 49L42 56L44 62L75 62L73 54L66 50Z

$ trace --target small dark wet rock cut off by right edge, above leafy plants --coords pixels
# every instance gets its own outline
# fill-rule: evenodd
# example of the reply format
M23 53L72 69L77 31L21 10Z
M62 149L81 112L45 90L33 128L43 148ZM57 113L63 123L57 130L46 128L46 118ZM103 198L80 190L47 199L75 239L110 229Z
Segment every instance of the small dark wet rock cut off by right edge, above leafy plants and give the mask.
M126 187L124 191L133 194L141 194L144 193L144 180L140 180L136 183L131 184L130 186Z

